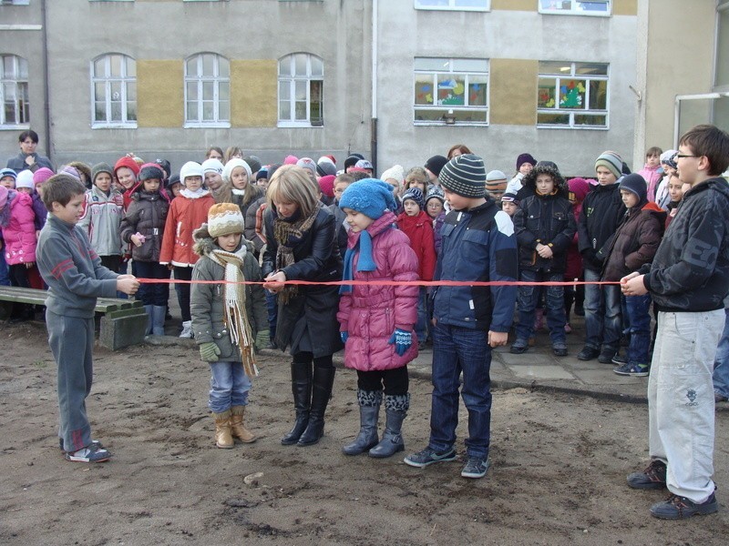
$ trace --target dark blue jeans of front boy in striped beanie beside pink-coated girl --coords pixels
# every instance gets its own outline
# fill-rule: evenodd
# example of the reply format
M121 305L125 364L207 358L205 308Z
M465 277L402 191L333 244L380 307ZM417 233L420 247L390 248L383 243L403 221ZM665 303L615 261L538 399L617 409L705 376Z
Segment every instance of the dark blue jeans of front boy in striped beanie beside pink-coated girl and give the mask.
M458 387L468 410L469 456L488 457L491 438L491 348L483 330L436 324L433 328L433 397L429 447L449 450L456 443Z

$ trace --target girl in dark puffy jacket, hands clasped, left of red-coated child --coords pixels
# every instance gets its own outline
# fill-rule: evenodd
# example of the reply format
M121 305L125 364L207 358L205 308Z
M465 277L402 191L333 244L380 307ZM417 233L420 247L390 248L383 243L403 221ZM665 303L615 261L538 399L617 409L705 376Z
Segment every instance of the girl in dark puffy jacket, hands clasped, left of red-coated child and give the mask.
M164 171L157 164L142 166L139 184L131 193L131 203L121 220L121 240L131 245L131 257L136 264L136 275L140 278L169 278L169 268L159 263L169 212L169 197L161 189L164 176ZM164 336L169 285L143 284L137 297L141 298L149 317L147 333Z

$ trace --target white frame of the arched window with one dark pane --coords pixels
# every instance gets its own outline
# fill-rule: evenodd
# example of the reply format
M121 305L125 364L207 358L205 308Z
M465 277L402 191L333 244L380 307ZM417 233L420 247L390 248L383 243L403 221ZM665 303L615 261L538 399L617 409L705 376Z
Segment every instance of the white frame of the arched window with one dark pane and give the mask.
M296 56L306 56L306 74L296 73ZM316 59L322 65L322 74L313 74L312 60ZM282 64L289 64L289 74L282 75ZM324 125L324 63L323 58L315 56L312 53L306 53L303 51L292 53L286 56L282 56L278 62L278 78L276 88L276 109L279 127L323 127ZM303 102L296 100L296 83L306 82L306 119L296 119L296 102ZM312 120L312 83L321 82L321 117L319 119ZM281 96L281 90L283 86L289 88L289 98L284 99ZM289 103L289 117L282 117L282 102Z

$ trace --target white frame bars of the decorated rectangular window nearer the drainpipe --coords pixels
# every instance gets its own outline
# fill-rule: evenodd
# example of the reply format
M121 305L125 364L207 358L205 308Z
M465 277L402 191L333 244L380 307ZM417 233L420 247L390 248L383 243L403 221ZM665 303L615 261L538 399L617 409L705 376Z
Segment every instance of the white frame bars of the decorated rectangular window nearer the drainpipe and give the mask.
M416 80L417 76L423 76L423 75L430 75L432 76L432 82L433 82L433 104L425 106L425 105L418 105L416 104L416 97L413 96L413 125L416 126L442 126L442 125L455 125L455 126L488 126L489 125L489 119L491 116L491 108L490 105L490 95L491 95L491 63L488 59L466 59L462 57L416 57L416 59L433 59L437 61L442 61L444 66L447 64L447 69L443 70L413 70L413 86L411 87L412 90L415 90L416 88ZM475 70L471 71L464 71L464 70L454 70L453 69L453 62L458 60L466 60L466 61L485 61L487 70L486 72L477 72ZM452 74L454 76L464 76L464 82L465 82L465 97L464 102L467 103L467 89L469 86L469 79L470 76L486 76L487 78L487 84L486 84L486 106L469 106L465 104L464 106L457 106L457 105L438 105L437 104L437 76L443 75L443 74ZM449 116L451 114L455 114L456 112L485 112L486 113L486 121L458 121L448 123L447 116L444 115L443 118L440 120L436 119L416 119L417 112L420 110L436 110L436 109L443 109L446 110L446 114Z

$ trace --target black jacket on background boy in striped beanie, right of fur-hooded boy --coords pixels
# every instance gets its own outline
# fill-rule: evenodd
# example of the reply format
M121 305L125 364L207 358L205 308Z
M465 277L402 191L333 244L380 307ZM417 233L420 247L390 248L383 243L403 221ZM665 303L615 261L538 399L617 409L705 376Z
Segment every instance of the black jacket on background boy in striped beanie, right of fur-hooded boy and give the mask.
M624 214L618 182L593 187L587 194L577 221L578 246L585 269L601 271L602 259L597 256L598 251L615 233Z

